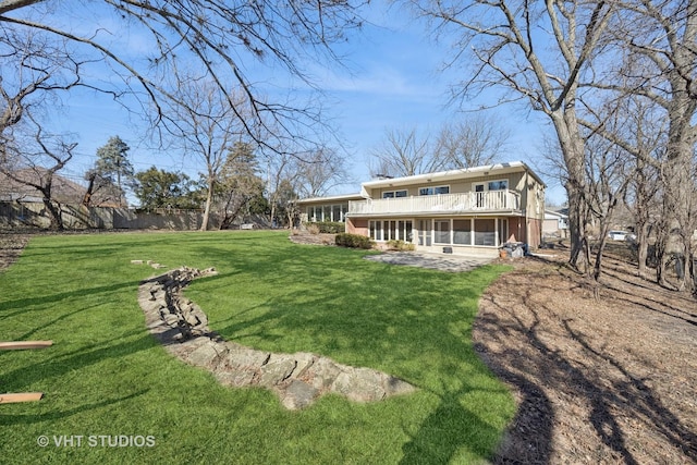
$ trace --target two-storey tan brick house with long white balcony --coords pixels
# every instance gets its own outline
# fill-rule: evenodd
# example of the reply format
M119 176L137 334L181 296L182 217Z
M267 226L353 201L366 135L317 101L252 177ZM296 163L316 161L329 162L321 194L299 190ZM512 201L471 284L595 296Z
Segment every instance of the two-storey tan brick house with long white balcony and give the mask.
M345 222L345 231L378 243L404 241L418 250L497 254L504 243L539 247L545 183L514 161L362 184L360 193L299 200L305 221Z

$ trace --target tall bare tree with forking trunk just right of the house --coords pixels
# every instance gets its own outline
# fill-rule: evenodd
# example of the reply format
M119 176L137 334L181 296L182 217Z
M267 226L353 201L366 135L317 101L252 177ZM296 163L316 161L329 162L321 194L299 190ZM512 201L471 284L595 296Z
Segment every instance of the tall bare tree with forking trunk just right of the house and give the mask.
M485 88L503 90L497 102L524 100L553 125L566 167L571 257L584 260L584 136L576 99L579 83L597 53L601 34L613 14L606 1L496 2L411 0L430 19L433 32L454 40L451 66L464 63L466 77L453 86L453 100L464 101Z

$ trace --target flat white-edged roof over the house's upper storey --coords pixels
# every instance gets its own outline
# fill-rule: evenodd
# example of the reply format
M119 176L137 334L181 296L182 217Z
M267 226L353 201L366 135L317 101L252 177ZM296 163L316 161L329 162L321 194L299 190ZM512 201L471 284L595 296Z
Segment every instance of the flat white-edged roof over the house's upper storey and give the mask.
M463 168L460 170L450 170L450 171L440 171L437 173L426 173L426 174L416 174L413 176L404 176L404 178L392 178L386 180L375 180L368 181L362 184L363 189L366 188L379 188L379 187L395 187L395 186L405 186L418 183L431 183L431 182L440 182L440 181L452 181L452 180L463 180L468 178L479 178L486 176L492 173L497 174L505 174L505 173L517 173L521 171L528 172L535 181L540 183L542 186L546 184L542 180L535 174L535 172L524 162L522 161L511 161L508 163L496 163L489 164L485 167L476 167L476 168Z

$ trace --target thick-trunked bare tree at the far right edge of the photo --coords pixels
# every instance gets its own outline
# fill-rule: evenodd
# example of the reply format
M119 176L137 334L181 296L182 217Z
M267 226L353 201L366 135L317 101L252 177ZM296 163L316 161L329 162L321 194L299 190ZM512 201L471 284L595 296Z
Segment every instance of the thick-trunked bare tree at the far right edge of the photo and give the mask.
M619 70L622 86L661 107L668 118L665 158L660 166L663 208L658 237L658 280L668 285L667 269L677 254L682 259L678 290L695 291L692 262L697 229L695 198L695 145L697 144L697 1L620 2L622 20L612 30L625 47L626 60ZM645 158L644 162L655 162Z

